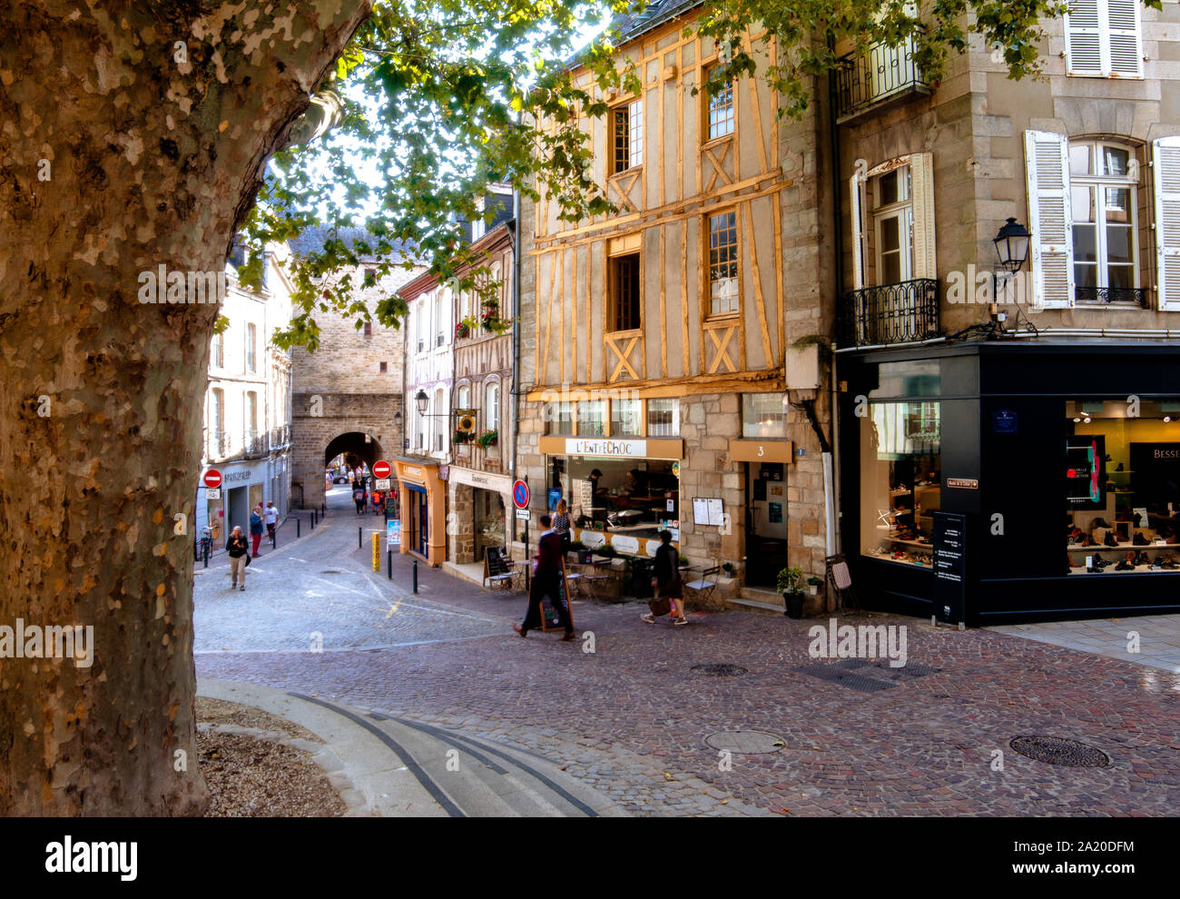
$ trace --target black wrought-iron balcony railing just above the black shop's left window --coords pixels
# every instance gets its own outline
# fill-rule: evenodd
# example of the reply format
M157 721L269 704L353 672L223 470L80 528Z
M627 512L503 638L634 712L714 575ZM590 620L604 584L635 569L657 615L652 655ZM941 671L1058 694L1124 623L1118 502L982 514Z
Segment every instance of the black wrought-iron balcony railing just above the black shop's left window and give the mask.
M939 336L938 282L916 278L847 291L837 317L841 347L912 343Z

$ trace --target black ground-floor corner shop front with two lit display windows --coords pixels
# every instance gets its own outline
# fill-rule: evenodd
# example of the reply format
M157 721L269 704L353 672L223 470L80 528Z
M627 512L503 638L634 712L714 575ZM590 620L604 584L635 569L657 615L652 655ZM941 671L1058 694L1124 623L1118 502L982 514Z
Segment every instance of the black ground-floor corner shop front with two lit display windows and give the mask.
M1180 610L1180 350L843 354L843 550L871 608L991 624Z

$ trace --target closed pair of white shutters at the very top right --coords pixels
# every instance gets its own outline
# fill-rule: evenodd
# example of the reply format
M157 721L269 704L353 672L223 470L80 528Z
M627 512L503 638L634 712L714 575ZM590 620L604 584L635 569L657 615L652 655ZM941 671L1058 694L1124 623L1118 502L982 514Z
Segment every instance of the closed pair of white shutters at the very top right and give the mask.
M1066 73L1142 78L1140 0L1070 0L1066 14Z

